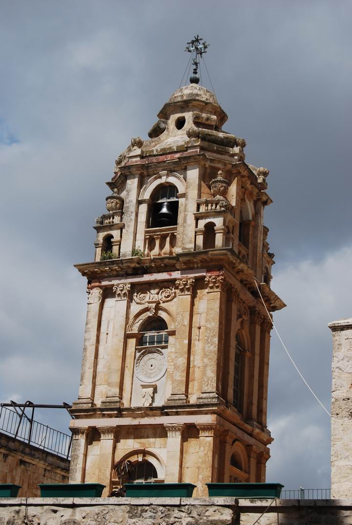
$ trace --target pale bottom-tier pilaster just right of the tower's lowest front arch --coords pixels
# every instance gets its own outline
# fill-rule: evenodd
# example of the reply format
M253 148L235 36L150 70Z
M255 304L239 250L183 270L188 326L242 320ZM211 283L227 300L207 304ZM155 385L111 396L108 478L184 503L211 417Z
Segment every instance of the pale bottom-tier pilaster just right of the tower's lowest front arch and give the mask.
M180 483L182 480L182 433L183 423L164 424L168 433L166 451L165 483Z

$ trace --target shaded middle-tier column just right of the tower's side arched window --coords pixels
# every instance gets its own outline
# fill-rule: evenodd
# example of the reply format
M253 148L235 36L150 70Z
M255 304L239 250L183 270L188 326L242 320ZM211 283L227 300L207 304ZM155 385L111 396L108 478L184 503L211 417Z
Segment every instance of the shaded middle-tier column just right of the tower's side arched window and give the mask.
M251 358L249 360L249 384L248 384L248 404L246 419L251 423L257 421L257 402L258 402L258 373L260 358L260 327L262 314L256 308L250 308L250 337L251 337Z

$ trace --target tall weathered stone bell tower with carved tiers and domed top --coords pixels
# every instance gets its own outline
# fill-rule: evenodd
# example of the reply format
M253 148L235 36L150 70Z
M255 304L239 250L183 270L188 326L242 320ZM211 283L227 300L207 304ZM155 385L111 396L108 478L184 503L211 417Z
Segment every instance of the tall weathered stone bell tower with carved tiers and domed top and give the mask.
M96 219L70 481L264 481L274 254L268 170L214 94L175 91L119 155Z

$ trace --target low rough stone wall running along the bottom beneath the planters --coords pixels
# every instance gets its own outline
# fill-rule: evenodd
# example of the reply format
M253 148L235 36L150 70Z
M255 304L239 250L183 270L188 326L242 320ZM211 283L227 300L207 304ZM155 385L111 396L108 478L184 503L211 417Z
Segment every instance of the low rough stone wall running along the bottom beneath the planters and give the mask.
M260 525L349 525L352 500L0 498L0 525L253 525L258 518Z

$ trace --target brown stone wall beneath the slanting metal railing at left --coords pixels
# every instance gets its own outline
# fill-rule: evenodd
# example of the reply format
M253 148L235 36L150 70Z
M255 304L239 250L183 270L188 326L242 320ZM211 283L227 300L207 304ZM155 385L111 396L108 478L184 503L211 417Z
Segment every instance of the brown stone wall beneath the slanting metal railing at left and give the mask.
M68 459L0 433L0 483L20 485L18 496L39 496L39 483L68 483L69 467Z

